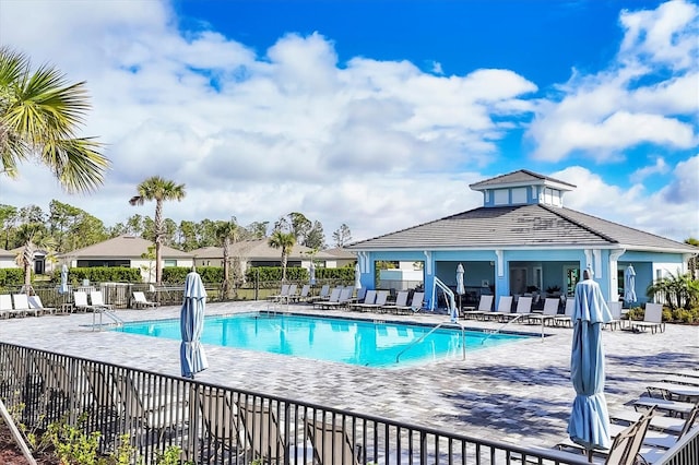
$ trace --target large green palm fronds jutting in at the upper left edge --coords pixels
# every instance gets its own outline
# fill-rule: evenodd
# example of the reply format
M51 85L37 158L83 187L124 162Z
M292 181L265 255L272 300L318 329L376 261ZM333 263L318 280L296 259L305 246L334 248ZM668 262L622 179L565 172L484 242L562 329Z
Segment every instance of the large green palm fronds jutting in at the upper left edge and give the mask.
M49 65L32 72L23 53L0 47L0 172L17 176L34 158L46 165L68 192L102 186L109 162L93 138L76 138L90 109L85 83L70 84Z

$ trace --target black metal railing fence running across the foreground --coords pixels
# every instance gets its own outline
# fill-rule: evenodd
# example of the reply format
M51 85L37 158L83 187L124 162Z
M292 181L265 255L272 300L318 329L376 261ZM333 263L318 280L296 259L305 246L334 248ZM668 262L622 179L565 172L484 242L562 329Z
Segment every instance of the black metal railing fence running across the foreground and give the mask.
M254 384L254 380L250 380ZM303 389L303 386L299 386ZM0 397L34 431L68 422L98 432L99 452L125 434L132 463L177 446L196 464L584 464L458 430L438 430L0 343ZM696 451L697 439L687 442ZM686 451L675 451L682 456ZM673 465L688 462L668 461Z

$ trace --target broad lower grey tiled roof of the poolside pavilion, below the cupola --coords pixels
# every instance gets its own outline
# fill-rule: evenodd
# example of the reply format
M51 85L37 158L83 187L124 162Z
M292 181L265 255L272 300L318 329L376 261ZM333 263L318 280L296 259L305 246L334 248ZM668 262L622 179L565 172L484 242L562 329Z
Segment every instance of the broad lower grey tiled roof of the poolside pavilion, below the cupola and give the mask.
M348 246L352 250L624 247L697 253L699 249L574 210L547 205L479 207Z

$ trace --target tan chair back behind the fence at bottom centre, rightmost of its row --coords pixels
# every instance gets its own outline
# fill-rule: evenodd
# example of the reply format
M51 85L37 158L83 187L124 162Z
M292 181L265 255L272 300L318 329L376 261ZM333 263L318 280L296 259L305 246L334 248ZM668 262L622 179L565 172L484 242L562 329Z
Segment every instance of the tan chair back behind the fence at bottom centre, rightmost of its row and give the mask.
M315 463L343 465L363 463L362 446L352 443L344 427L306 419L306 434L313 448Z

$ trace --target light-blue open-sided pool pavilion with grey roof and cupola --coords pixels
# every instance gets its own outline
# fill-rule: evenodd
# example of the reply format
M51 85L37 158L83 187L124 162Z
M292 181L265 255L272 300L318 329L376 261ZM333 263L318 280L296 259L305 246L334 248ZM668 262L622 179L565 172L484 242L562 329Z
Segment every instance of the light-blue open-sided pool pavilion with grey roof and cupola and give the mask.
M570 183L528 170L470 186L483 206L348 246L358 254L362 284L375 283L375 262L423 262L426 300L433 305L435 278L455 288L455 270L465 270L466 301L482 294L572 296L581 270L608 300L624 295L624 272L636 271L637 305L645 289L667 274L685 273L699 249L564 206Z

